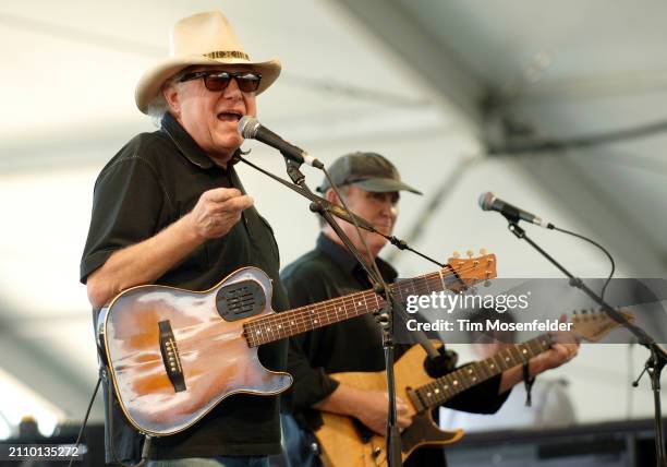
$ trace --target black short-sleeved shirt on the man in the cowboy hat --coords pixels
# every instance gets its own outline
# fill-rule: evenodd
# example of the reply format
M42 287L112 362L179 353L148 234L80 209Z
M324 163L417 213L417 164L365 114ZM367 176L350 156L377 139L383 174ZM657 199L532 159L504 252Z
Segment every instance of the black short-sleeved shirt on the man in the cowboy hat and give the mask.
M216 165L167 113L159 131L132 139L99 173L81 282L114 251L155 236L192 211L203 192L220 187L243 191L233 166ZM272 308L283 311L279 263L270 226L251 207L226 236L203 243L156 284L204 290L239 267L256 266L274 279ZM282 370L286 352L286 342L272 343L259 348L259 359ZM116 408L116 450L123 458L136 456L137 436ZM231 396L191 429L153 444L154 458L278 453L278 397Z

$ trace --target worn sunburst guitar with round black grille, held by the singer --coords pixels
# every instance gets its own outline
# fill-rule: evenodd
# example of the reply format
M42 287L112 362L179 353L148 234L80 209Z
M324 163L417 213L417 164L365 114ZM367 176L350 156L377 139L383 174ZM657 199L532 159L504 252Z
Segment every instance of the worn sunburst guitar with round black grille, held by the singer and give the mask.
M450 259L442 270L390 286L409 295L450 289L496 277L495 255ZM379 310L373 290L291 311L271 310L271 279L242 267L205 291L137 286L100 311L98 344L120 407L140 432L165 436L183 431L226 397L275 395L292 376L269 371L257 347Z

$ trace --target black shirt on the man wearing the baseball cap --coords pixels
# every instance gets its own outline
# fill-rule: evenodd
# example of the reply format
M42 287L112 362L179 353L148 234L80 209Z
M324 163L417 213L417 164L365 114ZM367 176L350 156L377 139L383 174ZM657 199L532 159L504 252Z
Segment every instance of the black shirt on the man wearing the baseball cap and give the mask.
M387 283L397 278L396 270L383 259L377 259L377 266ZM288 265L280 275L292 307L372 288L354 256L324 235L317 239L315 250ZM409 348L397 345L396 359ZM294 376L290 394L292 411L301 424L314 430L322 424L322 417L311 407L339 384L329 373L385 370L381 334L373 314L290 337L288 370ZM500 379L501 375L497 375L477 384L445 405L457 410L494 414L509 395L509 391L498 395ZM413 453L405 465L437 467L446 464L441 450L422 448Z

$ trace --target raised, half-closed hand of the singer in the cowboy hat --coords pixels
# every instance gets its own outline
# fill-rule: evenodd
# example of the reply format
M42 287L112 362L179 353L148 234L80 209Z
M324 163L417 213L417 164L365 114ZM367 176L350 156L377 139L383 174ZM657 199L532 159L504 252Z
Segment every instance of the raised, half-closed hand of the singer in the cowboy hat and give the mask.
M235 188L216 188L202 193L187 216L195 235L208 240L229 234L252 205L253 199Z

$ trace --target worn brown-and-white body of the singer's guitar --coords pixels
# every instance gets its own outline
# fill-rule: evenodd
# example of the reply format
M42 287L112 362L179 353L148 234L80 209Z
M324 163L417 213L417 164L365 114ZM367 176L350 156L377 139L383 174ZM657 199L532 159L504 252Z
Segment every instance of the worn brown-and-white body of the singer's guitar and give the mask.
M226 397L274 395L292 378L269 371L243 324L274 314L272 286L256 267L206 291L138 286L104 309L98 325L110 379L128 420L163 436L194 424Z

